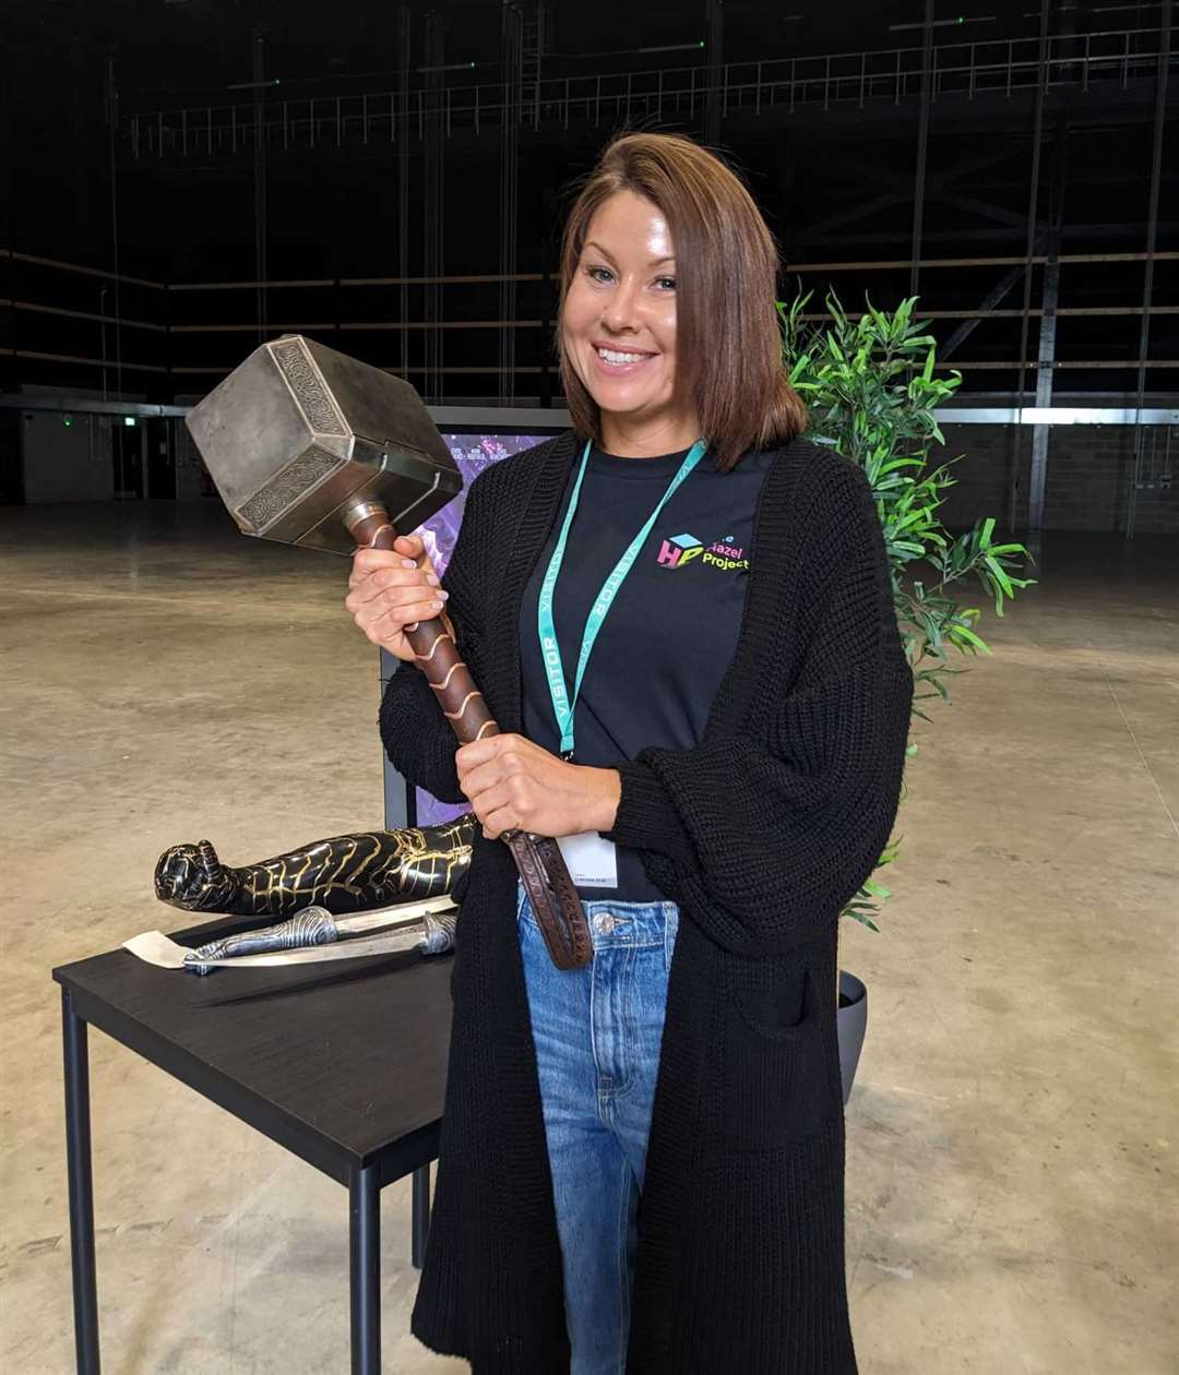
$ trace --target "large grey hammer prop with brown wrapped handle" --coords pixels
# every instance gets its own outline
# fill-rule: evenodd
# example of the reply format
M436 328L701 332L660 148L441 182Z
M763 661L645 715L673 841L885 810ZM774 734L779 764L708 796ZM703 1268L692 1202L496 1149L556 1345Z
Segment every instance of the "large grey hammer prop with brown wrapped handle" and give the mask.
M399 529L417 529L462 490L407 382L300 334L256 348L186 425L238 528L261 539L348 556L392 549ZM498 734L442 619L407 639L455 736ZM589 927L557 842L521 830L502 839L553 964L586 964Z

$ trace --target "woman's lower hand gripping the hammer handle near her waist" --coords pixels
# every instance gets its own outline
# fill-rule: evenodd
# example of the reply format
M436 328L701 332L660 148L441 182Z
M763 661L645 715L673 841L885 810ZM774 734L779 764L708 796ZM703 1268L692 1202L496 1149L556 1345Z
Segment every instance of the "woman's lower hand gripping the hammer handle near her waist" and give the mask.
M524 736L475 740L454 762L488 840L505 830L574 836L614 825L622 795L615 769L565 763Z

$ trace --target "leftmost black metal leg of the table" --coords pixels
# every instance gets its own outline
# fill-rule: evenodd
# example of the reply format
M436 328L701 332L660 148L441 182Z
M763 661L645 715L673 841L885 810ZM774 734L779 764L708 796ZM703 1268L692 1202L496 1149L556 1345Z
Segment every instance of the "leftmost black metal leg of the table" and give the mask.
M70 1261L74 1279L74 1352L78 1375L99 1375L98 1283L94 1264L94 1173L89 1148L87 1024L62 989L66 1068L66 1170L70 1195Z

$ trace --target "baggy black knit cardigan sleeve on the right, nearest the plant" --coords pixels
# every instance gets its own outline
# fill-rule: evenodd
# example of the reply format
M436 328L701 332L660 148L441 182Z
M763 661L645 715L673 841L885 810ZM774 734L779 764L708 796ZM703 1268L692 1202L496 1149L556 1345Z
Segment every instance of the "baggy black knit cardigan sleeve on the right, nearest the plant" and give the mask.
M836 536L824 540L820 517L803 546L831 569L830 591L813 597L814 615L799 594L806 645L757 732L611 766L622 796L601 833L637 847L651 880L736 954L819 935L879 862L900 802L912 670L871 488L857 469L835 487L843 499L825 529ZM764 646L758 671L775 657Z

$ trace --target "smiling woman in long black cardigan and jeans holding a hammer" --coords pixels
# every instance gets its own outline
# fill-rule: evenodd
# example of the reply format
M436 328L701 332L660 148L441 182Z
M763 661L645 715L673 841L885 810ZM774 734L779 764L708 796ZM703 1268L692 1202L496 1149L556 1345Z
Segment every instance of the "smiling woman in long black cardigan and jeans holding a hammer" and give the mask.
M564 236L574 430L472 483L440 586L417 536L355 558L406 664L389 758L482 824L411 1323L476 1372L856 1370L835 928L912 675L867 480L798 439L775 278L724 164L612 143ZM439 612L504 732L462 748L404 638ZM589 965L552 965L513 828L565 837Z

